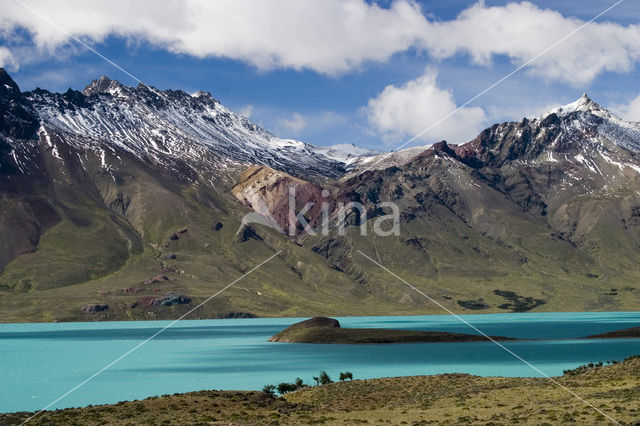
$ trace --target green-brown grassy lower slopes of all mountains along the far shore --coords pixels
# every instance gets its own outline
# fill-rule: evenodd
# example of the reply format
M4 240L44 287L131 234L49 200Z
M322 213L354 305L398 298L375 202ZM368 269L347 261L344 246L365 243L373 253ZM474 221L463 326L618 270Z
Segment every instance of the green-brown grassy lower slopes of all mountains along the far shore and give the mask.
M349 227L346 237L312 237L300 245L257 226L262 240L239 242L235 233L247 210L225 191L233 177L226 183L177 183L132 164L125 161L115 178L103 172L90 179L84 176L83 182L95 184L94 198L84 196L92 194L86 189L75 193L76 186L62 181L71 172L56 175L62 182L59 187L43 190L57 197L59 221L42 229L35 251L13 260L0 275L1 322L175 318L278 250L284 250L278 258L191 318L228 312L258 316L442 313L357 250L459 313L510 312L513 308L504 307L509 300L495 290L546 302L535 311L640 307L637 248L633 238L627 238L640 227L624 230L619 223L595 220L586 207L577 231L588 229L589 233L580 249L550 238L544 223L499 209L484 211L482 223L489 233L504 227L502 239L488 238L441 208L431 216L403 222L398 237L374 235L370 221L366 237L359 235L357 227ZM118 204L122 197L130 200L124 210ZM583 200L581 205L590 201ZM3 203L8 205L6 200ZM8 214L9 210L3 211ZM212 230L214 221L224 227ZM170 241L169 236L182 228L188 232ZM328 246L331 250L324 250ZM172 253L177 259L166 258ZM158 274L170 281L139 284ZM137 293L125 293L125 288ZM141 298L168 292L184 294L192 304L128 307ZM486 309L466 309L458 303L464 301L481 301ZM91 303L106 303L110 309L84 314L81 307Z

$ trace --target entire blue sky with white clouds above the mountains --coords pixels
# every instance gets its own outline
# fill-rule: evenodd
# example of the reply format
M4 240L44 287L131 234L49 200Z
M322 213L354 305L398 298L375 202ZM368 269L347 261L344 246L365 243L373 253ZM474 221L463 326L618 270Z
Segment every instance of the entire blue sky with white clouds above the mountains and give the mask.
M0 0L0 66L22 90L204 90L280 137L388 151L583 93L640 121L640 2L616 3Z

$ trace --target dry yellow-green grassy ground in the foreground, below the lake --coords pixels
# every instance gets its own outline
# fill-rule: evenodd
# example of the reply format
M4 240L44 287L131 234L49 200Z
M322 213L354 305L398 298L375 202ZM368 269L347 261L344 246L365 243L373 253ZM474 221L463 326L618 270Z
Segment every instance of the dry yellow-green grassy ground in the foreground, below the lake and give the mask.
M576 369L563 386L621 424L640 422L640 358ZM19 424L28 413L0 415ZM467 374L354 380L283 398L262 392L201 391L50 411L41 425L136 424L611 424L548 379Z

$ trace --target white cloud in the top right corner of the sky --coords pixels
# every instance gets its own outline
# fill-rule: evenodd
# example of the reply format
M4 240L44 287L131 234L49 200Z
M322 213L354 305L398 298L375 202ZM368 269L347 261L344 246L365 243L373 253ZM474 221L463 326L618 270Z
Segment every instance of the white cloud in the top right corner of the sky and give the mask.
M520 65L583 24L529 2L499 7L478 2L453 21L428 25L422 43L439 58L464 52L477 64L489 64L494 55L507 55ZM536 59L529 69L548 79L582 85L605 71L628 72L639 60L640 26L591 23Z

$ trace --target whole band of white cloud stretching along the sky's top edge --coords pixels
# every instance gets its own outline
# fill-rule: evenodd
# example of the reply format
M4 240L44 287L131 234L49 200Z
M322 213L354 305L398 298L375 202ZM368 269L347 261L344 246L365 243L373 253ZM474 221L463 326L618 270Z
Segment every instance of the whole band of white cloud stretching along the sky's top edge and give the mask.
M43 16L89 43L110 35L195 57L224 57L262 70L308 69L337 75L384 62L410 48L446 59L467 55L489 66L496 55L523 64L584 21L529 3L487 7L456 18L428 18L413 0L388 8L365 0L31 0ZM0 0L0 36L26 29L30 43L55 54L69 35L18 2ZM15 53L15 52L14 52ZM543 78L586 84L640 61L640 26L592 23L528 65Z

